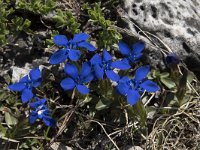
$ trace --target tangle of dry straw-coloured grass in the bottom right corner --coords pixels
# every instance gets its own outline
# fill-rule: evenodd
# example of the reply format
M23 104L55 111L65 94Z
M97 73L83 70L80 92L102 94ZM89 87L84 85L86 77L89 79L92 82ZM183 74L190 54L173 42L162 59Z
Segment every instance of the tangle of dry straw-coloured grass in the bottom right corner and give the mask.
M200 98L188 102L174 115L160 117L147 140L147 149L196 150L200 143ZM186 106L185 105L185 106Z

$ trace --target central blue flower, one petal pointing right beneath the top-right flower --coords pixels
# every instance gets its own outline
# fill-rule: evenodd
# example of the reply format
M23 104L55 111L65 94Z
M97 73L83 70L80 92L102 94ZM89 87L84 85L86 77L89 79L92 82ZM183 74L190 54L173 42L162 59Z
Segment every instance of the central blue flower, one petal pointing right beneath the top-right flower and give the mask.
M130 65L127 63L127 61L119 60L112 62L112 56L106 50L103 51L102 57L99 54L95 54L90 60L90 63L94 69L94 73L98 79L103 79L105 73L110 80L118 81L119 75L116 74L113 69L118 68L121 70L126 70L130 68Z

